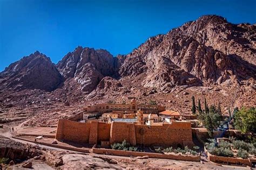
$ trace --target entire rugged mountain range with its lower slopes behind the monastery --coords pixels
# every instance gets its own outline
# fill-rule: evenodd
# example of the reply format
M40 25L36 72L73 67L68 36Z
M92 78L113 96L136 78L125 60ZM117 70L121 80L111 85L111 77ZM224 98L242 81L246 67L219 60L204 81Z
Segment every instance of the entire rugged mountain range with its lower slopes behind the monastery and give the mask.
M35 52L0 73L0 87L7 91L0 101L10 89L14 94L41 89L58 101L123 102L127 96L136 96L141 102L157 100L184 112L190 111L187 102L192 95L225 107L256 105L255 54L256 25L202 16L149 38L127 55L113 57L104 49L78 46L55 65ZM26 96L33 94L41 95L36 100L44 92ZM19 101L17 94L12 100Z

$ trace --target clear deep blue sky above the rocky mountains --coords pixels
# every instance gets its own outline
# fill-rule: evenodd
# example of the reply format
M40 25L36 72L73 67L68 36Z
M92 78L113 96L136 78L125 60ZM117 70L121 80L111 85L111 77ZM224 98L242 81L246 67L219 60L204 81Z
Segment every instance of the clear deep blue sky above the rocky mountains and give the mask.
M57 63L78 45L127 54L202 15L255 23L256 1L0 0L0 71L36 50Z

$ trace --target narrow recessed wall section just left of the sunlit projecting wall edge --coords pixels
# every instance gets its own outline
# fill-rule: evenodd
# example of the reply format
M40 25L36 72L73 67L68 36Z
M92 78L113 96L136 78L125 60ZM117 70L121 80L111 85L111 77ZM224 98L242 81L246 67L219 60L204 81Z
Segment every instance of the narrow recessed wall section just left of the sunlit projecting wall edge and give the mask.
M100 143L100 141L109 141L110 140L110 129L111 124L110 123L98 123L98 139L97 142Z

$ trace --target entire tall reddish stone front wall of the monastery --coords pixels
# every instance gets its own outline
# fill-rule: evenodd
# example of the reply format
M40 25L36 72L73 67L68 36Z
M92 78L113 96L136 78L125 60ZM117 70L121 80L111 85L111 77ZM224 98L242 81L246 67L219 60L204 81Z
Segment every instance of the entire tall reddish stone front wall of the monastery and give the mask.
M148 126L124 122L79 123L59 119L56 139L89 144L100 144L101 141L113 144L126 140L131 145L194 146L189 122Z

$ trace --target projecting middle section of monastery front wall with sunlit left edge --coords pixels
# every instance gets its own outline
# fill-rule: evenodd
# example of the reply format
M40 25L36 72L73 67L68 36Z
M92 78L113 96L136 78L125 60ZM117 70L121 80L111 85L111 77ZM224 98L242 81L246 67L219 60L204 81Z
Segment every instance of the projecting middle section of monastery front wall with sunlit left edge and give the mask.
M135 125L133 123L112 122L110 129L110 144L128 141L136 145Z

